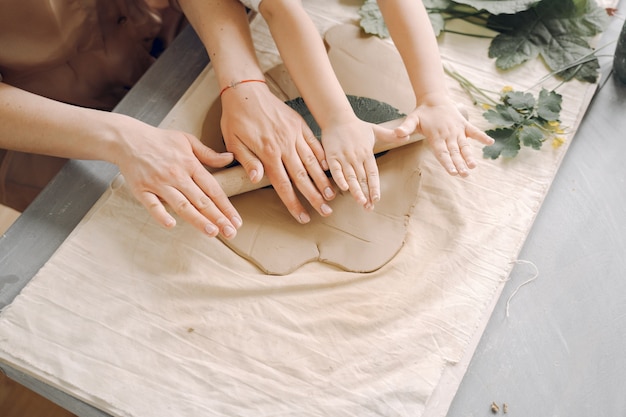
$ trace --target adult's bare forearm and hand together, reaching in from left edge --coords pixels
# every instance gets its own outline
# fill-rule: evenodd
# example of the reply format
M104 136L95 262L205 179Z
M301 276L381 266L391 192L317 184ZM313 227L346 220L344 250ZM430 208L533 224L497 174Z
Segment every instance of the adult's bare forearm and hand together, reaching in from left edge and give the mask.
M221 233L232 238L241 225L237 211L203 165L224 167L232 155L216 154L184 132L63 104L0 83L0 147L111 162L135 198L168 228L176 220L165 203L209 236Z

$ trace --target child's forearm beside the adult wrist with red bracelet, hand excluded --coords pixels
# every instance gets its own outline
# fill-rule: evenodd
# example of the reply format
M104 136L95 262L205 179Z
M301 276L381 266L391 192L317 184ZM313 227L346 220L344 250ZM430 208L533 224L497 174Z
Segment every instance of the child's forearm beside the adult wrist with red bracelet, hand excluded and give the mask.
M353 119L354 112L330 65L320 34L294 0L264 0L268 22L280 55L320 127Z

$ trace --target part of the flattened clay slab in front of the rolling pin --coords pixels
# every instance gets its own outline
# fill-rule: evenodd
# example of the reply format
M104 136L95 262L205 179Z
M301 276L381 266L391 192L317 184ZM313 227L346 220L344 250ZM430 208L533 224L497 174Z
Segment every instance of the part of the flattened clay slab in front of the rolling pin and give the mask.
M309 209L311 222L302 225L274 190L265 188L231 198L244 225L234 239L223 242L272 275L288 274L313 261L353 272L375 271L404 244L420 185L420 148L419 143L407 145L377 159L382 198L373 211L341 193L330 203L331 216Z

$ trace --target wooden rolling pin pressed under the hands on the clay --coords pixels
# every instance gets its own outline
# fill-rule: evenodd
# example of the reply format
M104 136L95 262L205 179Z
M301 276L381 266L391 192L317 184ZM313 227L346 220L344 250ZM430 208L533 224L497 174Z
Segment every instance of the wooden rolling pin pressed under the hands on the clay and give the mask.
M391 120L389 122L381 123L379 126L393 129L396 126L399 126L403 120L404 119ZM377 141L374 144L374 153L377 154L379 152L388 151L394 148L398 148L400 146L408 145L409 143L420 141L422 139L424 139L423 135L414 133L409 137L408 141L402 143ZM222 189L226 192L226 195L229 197L247 193L249 191L258 190L260 188L271 185L267 176L263 176L261 181L256 184L252 183L252 181L250 181L250 179L248 178L248 174L241 165L226 168L221 171L216 171L213 173L213 176L222 186Z

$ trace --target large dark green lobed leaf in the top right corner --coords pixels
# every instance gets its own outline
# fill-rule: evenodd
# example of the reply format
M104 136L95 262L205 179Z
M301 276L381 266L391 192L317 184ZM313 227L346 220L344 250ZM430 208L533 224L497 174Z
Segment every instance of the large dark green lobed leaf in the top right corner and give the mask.
M584 39L600 33L608 17L594 0L542 0L526 11L491 15L488 27L501 32L489 47L489 57L496 66L509 69L538 55L552 71L562 71L584 57L593 56L593 48ZM598 62L593 57L581 68L561 74L594 82ZM567 78L566 78L567 79Z

